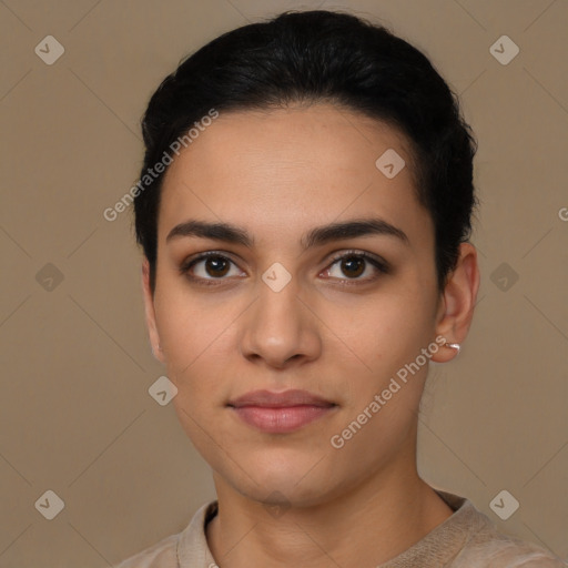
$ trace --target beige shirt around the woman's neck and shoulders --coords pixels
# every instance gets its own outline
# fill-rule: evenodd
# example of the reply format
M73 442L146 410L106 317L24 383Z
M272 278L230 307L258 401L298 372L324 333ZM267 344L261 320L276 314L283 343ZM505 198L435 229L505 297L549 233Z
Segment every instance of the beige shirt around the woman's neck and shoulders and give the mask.
M497 530L489 518L466 498L436 493L454 514L422 540L376 568L565 568L544 548ZM217 501L203 505L187 527L114 568L216 568L205 537ZM222 567L221 567L222 568Z

